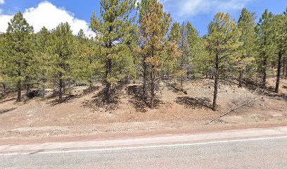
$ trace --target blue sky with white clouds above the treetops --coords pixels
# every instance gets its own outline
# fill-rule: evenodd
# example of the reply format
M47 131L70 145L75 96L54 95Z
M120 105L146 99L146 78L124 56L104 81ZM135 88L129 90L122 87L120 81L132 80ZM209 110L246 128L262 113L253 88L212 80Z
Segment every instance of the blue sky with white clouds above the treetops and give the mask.
M140 0L137 0L140 1ZM243 7L255 12L257 20L265 8L274 14L286 10L287 0L159 0L164 11L170 13L173 22L190 22L205 35L208 23L217 12L230 13L238 20ZM34 32L43 26L55 28L59 23L68 22L73 34L83 29L86 35L93 35L89 30L92 13L99 14L100 0L0 0L0 32L6 32L8 22L13 15L21 11Z

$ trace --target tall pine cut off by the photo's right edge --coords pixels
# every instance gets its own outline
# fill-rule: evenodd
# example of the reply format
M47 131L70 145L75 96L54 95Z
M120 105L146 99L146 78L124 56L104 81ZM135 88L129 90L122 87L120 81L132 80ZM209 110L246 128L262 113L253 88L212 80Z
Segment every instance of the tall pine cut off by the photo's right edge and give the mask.
M287 12L287 8L286 8ZM287 50L287 14L283 13L274 16L274 30L275 30L275 45L277 57L277 76L276 76L276 86L275 92L279 92L279 84L281 77L281 65L283 55L286 54Z

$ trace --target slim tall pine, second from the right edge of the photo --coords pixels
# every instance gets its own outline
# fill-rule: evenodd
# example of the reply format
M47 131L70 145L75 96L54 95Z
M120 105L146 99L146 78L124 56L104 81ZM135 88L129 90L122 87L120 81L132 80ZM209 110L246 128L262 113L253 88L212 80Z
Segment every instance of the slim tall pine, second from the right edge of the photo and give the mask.
M259 55L257 57L257 65L262 74L262 88L266 87L267 70L270 60L274 56L274 33L272 27L273 14L267 9L262 14L257 25L257 33L259 38Z

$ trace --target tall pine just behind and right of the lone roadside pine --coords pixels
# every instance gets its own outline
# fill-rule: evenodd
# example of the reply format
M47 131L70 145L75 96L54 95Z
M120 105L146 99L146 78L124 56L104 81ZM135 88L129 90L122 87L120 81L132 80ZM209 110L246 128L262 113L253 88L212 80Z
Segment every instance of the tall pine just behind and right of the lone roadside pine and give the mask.
M240 56L236 67L239 70L239 87L242 87L243 77L246 69L253 65L257 56L257 33L255 32L255 13L243 8L238 20L238 29L241 32L239 42L243 45L238 49Z

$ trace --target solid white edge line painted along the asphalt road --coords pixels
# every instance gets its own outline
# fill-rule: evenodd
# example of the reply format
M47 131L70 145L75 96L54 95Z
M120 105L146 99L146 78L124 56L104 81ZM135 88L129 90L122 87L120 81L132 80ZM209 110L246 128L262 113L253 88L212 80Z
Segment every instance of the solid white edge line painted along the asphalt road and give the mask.
M18 156L18 155L30 155L30 154L66 154L66 153L77 153L77 152L94 152L94 151L117 151L117 150L129 150L129 149L151 149L151 148L164 148L164 147L176 147L176 146L196 146L205 144L219 144L219 143L229 143L229 142L248 142L248 141L260 141L268 139L287 139L287 136L282 137L262 137L253 139L230 139L215 142L201 142L201 143L189 143L189 144L163 144L155 146L128 146L128 147L118 147L118 148L108 148L108 149L84 149L84 150L62 150L62 151L39 151L39 152L29 152L29 153L11 153L11 154L0 154L0 156Z

